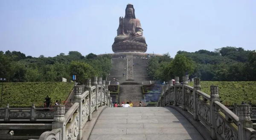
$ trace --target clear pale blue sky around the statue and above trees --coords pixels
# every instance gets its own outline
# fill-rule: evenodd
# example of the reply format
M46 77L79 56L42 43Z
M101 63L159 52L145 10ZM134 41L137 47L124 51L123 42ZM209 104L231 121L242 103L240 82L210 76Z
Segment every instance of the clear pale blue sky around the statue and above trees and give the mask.
M147 53L256 49L256 0L0 0L0 50L35 57L113 53L128 3L140 19Z

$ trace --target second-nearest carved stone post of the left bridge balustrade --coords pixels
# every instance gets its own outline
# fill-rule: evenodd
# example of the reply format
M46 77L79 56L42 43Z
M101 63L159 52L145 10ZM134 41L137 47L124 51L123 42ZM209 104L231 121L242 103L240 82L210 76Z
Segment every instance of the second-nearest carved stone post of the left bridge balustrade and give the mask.
M73 101L74 103L79 103L79 107L78 107L78 111L79 111L79 134L77 137L77 140L81 140L82 139L82 108L83 108L83 104L82 104L82 87L81 86L75 86L74 87L74 98Z

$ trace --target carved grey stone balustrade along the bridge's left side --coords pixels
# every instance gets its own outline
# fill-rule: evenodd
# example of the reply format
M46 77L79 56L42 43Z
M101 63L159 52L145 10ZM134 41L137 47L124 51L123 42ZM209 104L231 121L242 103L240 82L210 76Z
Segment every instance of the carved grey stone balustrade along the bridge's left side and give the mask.
M54 106L54 118L52 131L41 134L39 140L81 140L82 129L88 121L93 119L93 112L99 106L111 106L112 98L105 80L96 76L86 79L85 92L81 93L82 87L74 87L74 104L65 112L64 105ZM35 140L35 139L30 139Z

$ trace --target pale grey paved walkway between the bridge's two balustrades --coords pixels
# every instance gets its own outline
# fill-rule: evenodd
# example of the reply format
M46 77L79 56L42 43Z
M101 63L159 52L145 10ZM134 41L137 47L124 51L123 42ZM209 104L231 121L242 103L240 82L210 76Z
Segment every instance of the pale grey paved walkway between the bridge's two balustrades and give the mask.
M106 108L89 140L204 140L175 109L169 107Z

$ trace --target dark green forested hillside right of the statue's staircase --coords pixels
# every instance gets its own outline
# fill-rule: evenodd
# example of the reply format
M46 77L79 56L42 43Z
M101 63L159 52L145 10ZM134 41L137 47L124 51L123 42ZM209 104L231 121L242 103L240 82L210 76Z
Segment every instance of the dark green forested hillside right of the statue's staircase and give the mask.
M149 59L148 69L150 76L162 82L186 73L201 81L256 81L256 51L236 47L178 51L174 59L169 54Z

